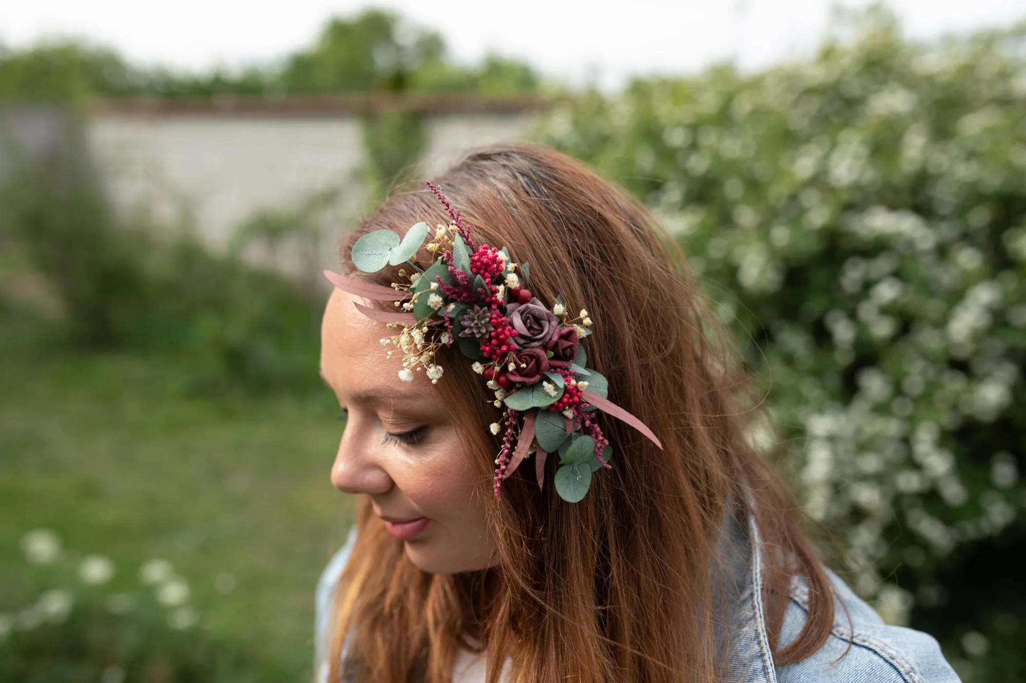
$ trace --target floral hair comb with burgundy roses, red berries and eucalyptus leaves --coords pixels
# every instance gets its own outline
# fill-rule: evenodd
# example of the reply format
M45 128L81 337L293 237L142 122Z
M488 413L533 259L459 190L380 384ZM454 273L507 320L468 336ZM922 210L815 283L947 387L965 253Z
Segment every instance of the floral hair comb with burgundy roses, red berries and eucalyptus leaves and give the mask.
M386 266L402 266L399 277L408 282L383 287L330 271L324 275L357 296L395 303L398 311L355 306L397 332L381 342L396 347L389 350L390 358L397 351L403 354L400 379L412 381L415 371L424 371L437 384L442 376L437 357L443 346L456 345L474 361L474 371L495 392L494 405L503 408L491 425L494 435L503 434L496 458L496 497L501 497L503 480L531 453L541 487L548 454L558 453L556 491L569 503L581 500L592 473L608 468L613 452L595 419L596 408L662 448L640 419L606 400L608 383L587 367L581 340L591 334L588 312L571 318L562 295L551 309L543 305L529 289L527 264L514 264L505 247L475 245L459 209L453 210L434 185L428 187L448 212L448 226L432 231L419 223L402 238L392 230L378 230L353 246L353 264L359 270L377 273Z

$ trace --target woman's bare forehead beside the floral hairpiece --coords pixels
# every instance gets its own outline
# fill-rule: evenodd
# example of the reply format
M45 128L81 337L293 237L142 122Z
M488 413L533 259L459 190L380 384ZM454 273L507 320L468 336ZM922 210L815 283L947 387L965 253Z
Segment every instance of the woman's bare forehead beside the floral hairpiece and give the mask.
M370 305L341 289L333 289L321 321L321 374L347 400L415 403L437 398L424 372L413 381L399 379L402 352L382 346L381 339L395 332L385 323L370 320L354 304ZM394 350L392 358L388 352Z

